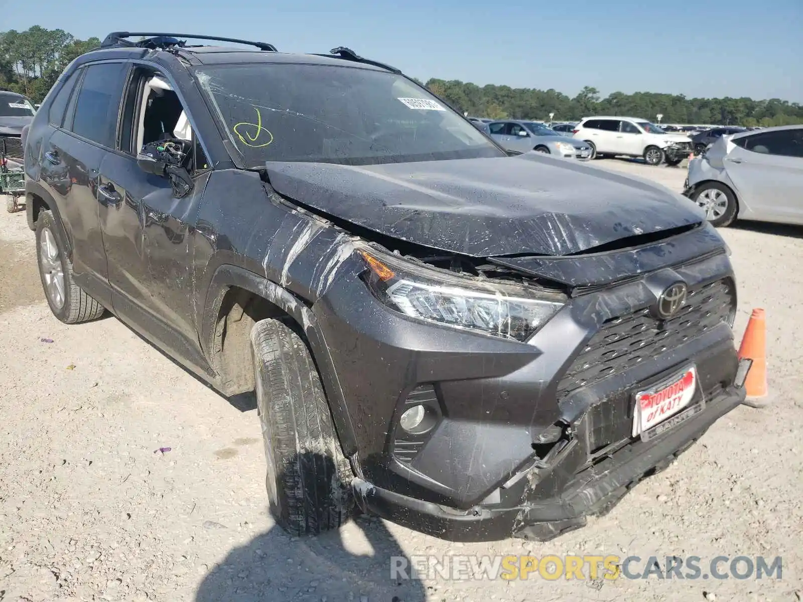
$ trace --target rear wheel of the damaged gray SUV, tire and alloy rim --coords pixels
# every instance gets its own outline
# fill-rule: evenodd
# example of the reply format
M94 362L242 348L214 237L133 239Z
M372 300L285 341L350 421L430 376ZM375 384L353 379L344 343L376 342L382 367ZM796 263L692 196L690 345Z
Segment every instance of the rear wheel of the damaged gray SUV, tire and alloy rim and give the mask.
M75 284L66 248L60 230L55 226L53 212L40 211L36 221L36 262L45 299L53 315L67 324L100 318L105 309Z

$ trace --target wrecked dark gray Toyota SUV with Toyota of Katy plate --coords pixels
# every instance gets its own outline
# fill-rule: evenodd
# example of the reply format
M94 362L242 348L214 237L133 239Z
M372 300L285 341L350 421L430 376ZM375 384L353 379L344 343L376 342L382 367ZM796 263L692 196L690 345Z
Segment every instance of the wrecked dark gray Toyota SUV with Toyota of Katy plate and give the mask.
M347 48L185 37L67 67L28 223L59 319L255 397L283 527L550 539L744 399L728 250L683 197L508 156Z

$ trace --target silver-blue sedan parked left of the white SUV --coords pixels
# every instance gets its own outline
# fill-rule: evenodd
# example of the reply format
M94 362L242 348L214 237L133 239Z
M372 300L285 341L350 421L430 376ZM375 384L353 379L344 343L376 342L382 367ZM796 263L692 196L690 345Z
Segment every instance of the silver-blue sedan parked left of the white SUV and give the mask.
M547 153L556 157L588 161L591 147L583 140L568 138L535 121L503 120L488 124L491 138L506 150Z

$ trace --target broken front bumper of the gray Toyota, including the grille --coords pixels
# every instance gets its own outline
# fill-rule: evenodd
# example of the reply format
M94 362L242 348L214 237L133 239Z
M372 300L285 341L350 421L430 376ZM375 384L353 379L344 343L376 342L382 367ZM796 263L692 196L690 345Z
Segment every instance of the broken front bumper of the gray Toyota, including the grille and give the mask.
M677 244L695 240L690 234ZM408 319L373 297L361 270L355 262L312 306L331 358L324 384L365 508L433 535L493 539L525 524L576 523L588 509L561 509L556 500L578 479L589 481L605 458L657 445L647 458L657 466L660 441L693 439L719 416L711 408L740 401L729 388L737 370L729 325L736 286L724 250L589 286L527 344ZM678 280L688 284L694 311L655 323L648 308ZM650 445L634 441L632 393L690 362L707 399L730 401L712 401ZM399 417L420 404L433 409L435 425L411 436ZM637 479L638 470L628 470ZM504 527L482 527L485 521Z

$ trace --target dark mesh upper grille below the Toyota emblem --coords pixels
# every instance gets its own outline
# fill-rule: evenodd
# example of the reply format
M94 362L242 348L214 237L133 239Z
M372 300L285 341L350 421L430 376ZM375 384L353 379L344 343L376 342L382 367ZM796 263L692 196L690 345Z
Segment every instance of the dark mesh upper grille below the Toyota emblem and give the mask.
M686 303L672 319L655 319L645 307L605 321L560 380L558 400L728 321L734 299L732 287L732 281L725 279L690 290Z

